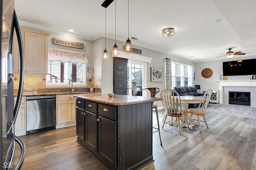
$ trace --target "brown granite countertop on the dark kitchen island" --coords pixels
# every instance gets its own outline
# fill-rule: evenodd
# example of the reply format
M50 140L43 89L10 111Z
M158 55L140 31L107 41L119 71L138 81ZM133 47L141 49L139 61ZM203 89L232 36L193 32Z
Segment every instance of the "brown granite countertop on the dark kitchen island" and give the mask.
M101 104L110 104L114 106L147 103L162 100L162 98L151 98L145 96L130 96L122 94L114 94L113 97L108 97L108 94L77 94L74 97L97 102Z

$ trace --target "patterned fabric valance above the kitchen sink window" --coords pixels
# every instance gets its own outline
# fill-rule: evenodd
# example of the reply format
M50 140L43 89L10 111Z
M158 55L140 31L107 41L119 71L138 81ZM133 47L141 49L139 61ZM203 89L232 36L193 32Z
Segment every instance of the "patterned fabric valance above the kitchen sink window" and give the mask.
M87 64L87 54L48 49L48 60Z

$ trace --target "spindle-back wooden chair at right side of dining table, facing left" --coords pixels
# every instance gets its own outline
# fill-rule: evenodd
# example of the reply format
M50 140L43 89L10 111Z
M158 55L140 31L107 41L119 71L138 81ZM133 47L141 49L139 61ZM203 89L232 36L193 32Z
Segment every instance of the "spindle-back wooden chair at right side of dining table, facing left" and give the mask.
M193 124L193 125L198 125L199 126L199 131L202 132L201 130L201 125L200 125L200 122L205 122L206 124L206 127L208 127L208 124L206 122L206 119L205 119L205 116L206 115L206 107L208 106L209 102L210 102L210 99L211 99L211 96L212 96L212 89L209 89L207 90L205 93L204 93L204 96L202 97L202 100L199 104L199 106L197 108L190 108L190 109L187 109L185 112L186 113L191 113L191 117L192 115L197 115L197 119L194 119L193 117L193 120L190 121L189 123L190 124ZM203 116L204 117L204 120L200 120L200 116ZM192 128L191 128L192 129Z

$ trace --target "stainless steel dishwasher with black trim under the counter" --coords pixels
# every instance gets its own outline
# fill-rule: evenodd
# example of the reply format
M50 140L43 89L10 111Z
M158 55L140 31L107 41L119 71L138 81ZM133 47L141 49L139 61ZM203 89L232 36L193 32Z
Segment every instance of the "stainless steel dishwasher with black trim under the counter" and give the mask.
M26 97L26 133L56 128L56 95Z

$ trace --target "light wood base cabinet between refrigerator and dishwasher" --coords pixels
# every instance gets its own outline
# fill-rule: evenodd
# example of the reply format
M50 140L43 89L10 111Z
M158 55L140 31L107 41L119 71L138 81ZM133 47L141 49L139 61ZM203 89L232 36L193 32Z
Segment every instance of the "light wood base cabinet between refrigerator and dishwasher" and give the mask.
M16 104L17 97L14 98L14 104ZM15 135L26 135L26 97L22 97L20 102L20 108L14 124Z

